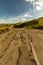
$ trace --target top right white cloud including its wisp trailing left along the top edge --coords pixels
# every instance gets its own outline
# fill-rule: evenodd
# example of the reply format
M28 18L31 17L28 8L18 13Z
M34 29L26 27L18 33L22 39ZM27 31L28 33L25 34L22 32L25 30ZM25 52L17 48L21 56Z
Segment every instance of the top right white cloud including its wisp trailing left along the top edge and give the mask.
M31 2L31 4L33 4L33 8L36 8L37 11L40 11L43 8L43 0L25 0L25 1Z

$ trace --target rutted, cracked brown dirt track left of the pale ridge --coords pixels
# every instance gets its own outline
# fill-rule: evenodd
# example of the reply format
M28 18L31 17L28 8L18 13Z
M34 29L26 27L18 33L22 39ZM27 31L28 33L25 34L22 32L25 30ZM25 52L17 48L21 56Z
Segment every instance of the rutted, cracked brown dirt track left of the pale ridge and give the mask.
M0 35L0 65L37 65L29 30L11 30Z

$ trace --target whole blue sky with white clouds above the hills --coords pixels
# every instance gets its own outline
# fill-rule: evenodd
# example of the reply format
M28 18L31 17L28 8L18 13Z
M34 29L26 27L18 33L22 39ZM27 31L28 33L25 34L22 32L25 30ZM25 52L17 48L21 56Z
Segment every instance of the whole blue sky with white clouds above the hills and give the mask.
M43 16L43 0L0 0L0 23L15 23Z

